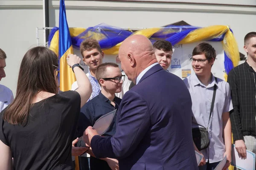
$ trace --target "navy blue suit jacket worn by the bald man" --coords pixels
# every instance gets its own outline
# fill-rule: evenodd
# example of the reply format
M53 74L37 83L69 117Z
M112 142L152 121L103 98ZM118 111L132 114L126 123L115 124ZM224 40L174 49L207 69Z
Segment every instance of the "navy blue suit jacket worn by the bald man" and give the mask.
M118 159L120 170L198 170L191 107L182 79L154 65L123 96L116 134L93 136L93 153Z

